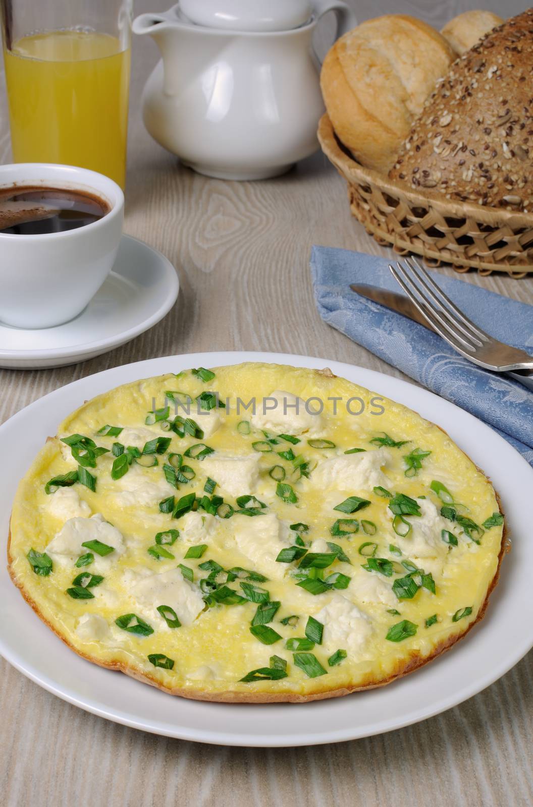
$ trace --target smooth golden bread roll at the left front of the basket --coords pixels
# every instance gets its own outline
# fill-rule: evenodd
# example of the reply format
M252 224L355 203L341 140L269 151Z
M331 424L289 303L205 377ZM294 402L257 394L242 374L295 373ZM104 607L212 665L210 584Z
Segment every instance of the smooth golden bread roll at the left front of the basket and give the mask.
M335 132L356 160L387 174L455 57L438 31L404 15L368 20L334 44L322 66L322 94Z

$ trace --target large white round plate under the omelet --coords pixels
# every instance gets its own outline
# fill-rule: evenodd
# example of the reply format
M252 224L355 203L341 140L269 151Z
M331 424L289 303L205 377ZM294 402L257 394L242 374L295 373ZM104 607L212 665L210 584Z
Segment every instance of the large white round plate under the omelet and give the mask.
M194 353L82 378L32 403L0 427L0 455L9 458L0 487L2 535L7 535L17 480L45 437L55 434L57 424L85 399L136 378L245 361L328 366L443 426L489 474L502 495L513 551L503 563L485 620L449 653L383 688L301 705L209 704L173 698L84 661L36 617L2 567L0 652L7 661L49 692L110 720L169 737L233 746L313 745L380 734L450 709L513 667L533 645L533 470L480 420L428 391L372 370L279 353Z

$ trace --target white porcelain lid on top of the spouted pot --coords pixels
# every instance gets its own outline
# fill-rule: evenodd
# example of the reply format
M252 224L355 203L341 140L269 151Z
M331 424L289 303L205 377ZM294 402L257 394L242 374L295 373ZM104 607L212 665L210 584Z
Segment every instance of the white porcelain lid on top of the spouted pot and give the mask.
M313 16L308 0L180 0L179 8L191 23L233 31L290 31Z

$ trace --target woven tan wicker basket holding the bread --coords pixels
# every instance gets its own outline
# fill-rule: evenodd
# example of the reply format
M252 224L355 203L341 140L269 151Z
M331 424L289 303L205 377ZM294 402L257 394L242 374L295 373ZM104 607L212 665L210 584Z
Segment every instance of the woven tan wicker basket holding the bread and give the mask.
M352 214L381 246L422 255L430 266L451 263L457 272L474 268L514 278L533 273L533 215L431 199L363 168L337 139L327 114L318 140L348 182Z

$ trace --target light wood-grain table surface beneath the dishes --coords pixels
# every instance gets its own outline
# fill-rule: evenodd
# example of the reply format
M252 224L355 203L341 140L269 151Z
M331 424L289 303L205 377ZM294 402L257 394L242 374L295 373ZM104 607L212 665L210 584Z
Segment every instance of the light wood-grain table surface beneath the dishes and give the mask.
M400 10L392 0L351 2L359 19ZM493 10L500 5L492 0ZM136 13L159 6L165 2L142 0ZM401 11L437 27L468 7L468 0L401 3ZM525 7L508 0L505 13ZM313 243L389 254L350 219L342 179L320 153L267 182L221 182L177 165L141 122L141 89L156 59L151 41L134 43L125 231L173 261L178 303L151 331L90 362L0 370L0 421L76 378L199 350L304 353L401 377L325 325L313 302ZM0 93L0 161L9 162L3 87ZM533 278L462 277L533 303ZM116 725L59 700L0 659L0 804L531 805L532 684L530 653L485 692L418 725L338 745L261 750Z

